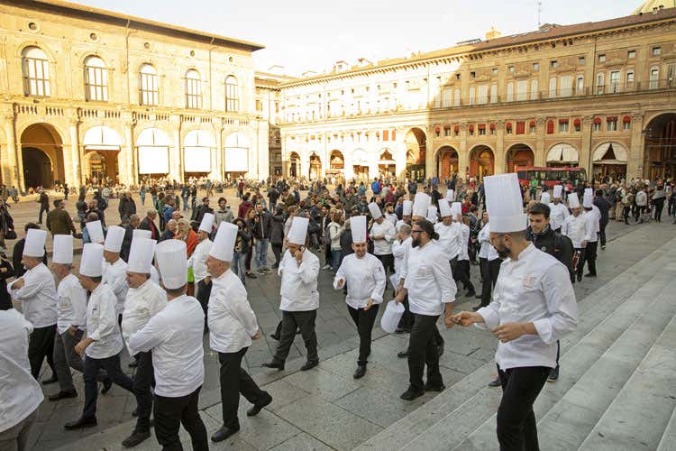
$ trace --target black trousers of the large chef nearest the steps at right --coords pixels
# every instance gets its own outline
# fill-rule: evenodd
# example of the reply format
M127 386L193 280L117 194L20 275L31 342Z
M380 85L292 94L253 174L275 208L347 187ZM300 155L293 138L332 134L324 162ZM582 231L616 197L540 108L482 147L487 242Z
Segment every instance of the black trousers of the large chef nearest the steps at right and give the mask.
M544 387L551 368L525 366L502 371L502 400L498 407L500 451L537 451L537 423L533 404Z

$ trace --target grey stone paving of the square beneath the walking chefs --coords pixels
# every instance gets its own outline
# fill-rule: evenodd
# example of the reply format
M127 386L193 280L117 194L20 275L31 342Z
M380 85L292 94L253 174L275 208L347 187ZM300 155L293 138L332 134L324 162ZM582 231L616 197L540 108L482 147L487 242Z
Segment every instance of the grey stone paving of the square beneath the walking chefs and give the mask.
M236 202L232 192L227 197L229 201ZM147 206L150 203L149 198L146 199ZM69 199L69 204L73 204L69 205L69 210L72 211L74 202ZM109 212L108 216L116 216L116 205L116 200L111 201L106 210ZM37 205L30 200L13 206L12 214L17 230L23 227L23 223L32 220L36 211ZM599 277L595 280L585 279L576 284L578 299L585 299L589 292L598 290L618 272L624 271L652 252L666 236L671 237L673 230L671 224L625 226L611 222L607 230L607 250L599 251ZM642 245L640 248L632 246L631 233L655 234L653 245ZM19 235L22 236L22 232ZM8 247L11 248L11 244ZM320 254L320 258L323 259L324 256ZM478 268L474 266L472 280L475 285L479 284ZM398 395L407 388L407 363L406 360L397 359L396 353L406 347L407 336L387 335L378 326L374 328L369 372L360 381L355 382L352 379L358 337L347 313L342 292L333 290L332 281L330 272L321 272L319 290L322 297L316 330L322 362L317 369L301 373L298 370L305 361L305 348L300 338L296 340L289 354L286 371L273 372L260 366L262 362L269 361L277 344L269 335L274 331L280 317L279 277L270 274L256 280L247 280L251 306L256 312L264 336L251 345L245 364L255 379L264 385L265 390L270 391L274 401L255 419L246 419L243 410L249 406L242 399L242 431L226 444L212 446L214 449L228 446L233 449L352 449L433 398L432 394L426 394L413 403L398 399ZM390 298L391 292L386 295L386 299ZM456 301L456 308L469 309L476 302L477 299L460 297ZM459 382L483 364L492 361L495 341L491 336L472 329L463 329L459 333L455 328L443 329L443 335L446 338L446 352L441 365L447 386ZM207 337L205 350L206 381L200 404L204 409L203 418L211 433L218 428L221 414L217 355L209 350ZM131 373L132 370L126 368L128 361L129 357L124 355L125 371ZM83 437L87 437L89 449L116 449L122 438L132 429L131 412L135 407L133 397L114 387L108 395L99 397L99 425L96 428L65 432L63 423L78 418L84 398L81 376L75 374L74 380L80 392L77 399L42 403L38 421L32 428L33 449L51 450L59 446L62 449L75 449L84 444L77 443ZM58 385L44 388L45 394L57 390ZM184 440L184 444L187 443ZM111 444L117 444L117 447L111 447ZM139 449L158 448L154 437L139 446Z

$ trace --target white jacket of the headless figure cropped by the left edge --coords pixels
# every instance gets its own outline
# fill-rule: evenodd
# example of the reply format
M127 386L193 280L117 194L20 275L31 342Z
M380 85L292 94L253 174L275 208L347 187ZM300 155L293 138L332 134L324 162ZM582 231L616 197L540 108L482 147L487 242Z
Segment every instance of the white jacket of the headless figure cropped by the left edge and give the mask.
M14 308L0 310L0 431L14 428L44 400L28 361L31 332L32 324Z

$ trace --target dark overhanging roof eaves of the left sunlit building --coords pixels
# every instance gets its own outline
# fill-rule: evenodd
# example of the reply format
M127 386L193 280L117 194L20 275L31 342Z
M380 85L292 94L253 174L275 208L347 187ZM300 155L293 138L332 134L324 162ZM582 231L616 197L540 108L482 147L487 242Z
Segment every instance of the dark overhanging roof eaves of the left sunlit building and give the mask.
M265 46L251 41L229 38L227 36L222 36L215 33L200 32L198 30L193 30L178 25L152 21L150 19L144 19L142 17L128 14L115 13L113 11L95 8L88 5L79 5L63 0L0 0L0 3L11 6L27 7L31 9L54 11L57 13L68 11L73 15L78 15L105 23L114 23L123 27L132 26L133 28L145 29L150 32L160 32L163 34L179 34L189 40L235 47L237 49L246 51L259 51L265 48ZM111 19L113 19L113 21Z

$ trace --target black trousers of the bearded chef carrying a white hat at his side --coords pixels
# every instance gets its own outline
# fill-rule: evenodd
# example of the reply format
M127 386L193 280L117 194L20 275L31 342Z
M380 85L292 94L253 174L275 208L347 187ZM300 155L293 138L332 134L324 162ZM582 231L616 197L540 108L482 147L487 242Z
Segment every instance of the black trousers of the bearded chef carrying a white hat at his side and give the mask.
M439 386L443 384L442 373L439 373L439 349L436 328L438 315L428 316L416 313L413 330L408 341L408 376L410 388L415 391L425 390L423 374L427 365L427 382Z

